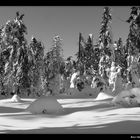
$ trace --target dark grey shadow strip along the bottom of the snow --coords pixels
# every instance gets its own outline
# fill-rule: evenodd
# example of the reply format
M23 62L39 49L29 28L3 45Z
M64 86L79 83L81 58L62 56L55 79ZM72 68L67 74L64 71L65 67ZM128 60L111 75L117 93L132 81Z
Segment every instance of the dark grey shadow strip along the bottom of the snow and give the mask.
M9 134L139 134L139 121L121 121L106 125L40 128L31 130L2 130Z

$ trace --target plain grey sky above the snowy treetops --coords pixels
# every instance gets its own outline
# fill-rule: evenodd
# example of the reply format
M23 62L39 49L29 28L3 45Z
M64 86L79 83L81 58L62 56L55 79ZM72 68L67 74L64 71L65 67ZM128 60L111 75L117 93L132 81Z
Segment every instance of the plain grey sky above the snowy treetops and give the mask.
M112 32L114 40L122 37L125 41L129 33L129 24L123 22L129 17L129 6L111 6ZM25 14L24 23L28 29L27 40L32 35L41 40L45 49L52 45L52 38L60 35L63 39L64 56L74 56L78 51L78 38L81 32L84 38L94 35L94 43L99 36L103 6L1 6L0 25L13 19L16 11ZM120 20L122 19L122 20Z

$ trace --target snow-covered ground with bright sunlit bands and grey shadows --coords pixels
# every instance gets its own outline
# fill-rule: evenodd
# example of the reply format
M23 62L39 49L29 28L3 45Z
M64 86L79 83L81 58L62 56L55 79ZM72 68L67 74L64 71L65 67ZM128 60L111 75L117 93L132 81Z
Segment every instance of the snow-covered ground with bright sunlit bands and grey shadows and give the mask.
M64 107L62 115L34 115L25 112L33 98L19 103L0 100L0 133L90 133L139 134L140 108L119 108L111 99L58 98Z

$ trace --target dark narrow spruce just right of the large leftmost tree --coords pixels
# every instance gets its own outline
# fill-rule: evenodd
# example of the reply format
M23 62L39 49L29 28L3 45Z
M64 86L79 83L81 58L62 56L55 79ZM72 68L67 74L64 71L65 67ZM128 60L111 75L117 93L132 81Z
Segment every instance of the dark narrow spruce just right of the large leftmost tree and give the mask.
M43 82L43 65L44 65L44 45L35 37L31 38L29 44L29 61L30 71L29 77L31 79L31 91L34 95L41 95Z

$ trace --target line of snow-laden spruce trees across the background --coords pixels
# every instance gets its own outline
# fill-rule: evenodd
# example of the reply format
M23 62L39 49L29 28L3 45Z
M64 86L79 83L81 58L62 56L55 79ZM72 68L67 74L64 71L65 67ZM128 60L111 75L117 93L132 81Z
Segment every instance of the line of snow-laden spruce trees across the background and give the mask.
M16 13L0 28L0 92L1 94L37 94L40 96L54 87L64 92L63 82L75 71L80 75L100 76L109 85L107 70L121 68L121 77L125 83L132 83L132 67L140 62L140 7L132 7L126 20L129 34L126 43L122 38L113 41L111 31L112 15L109 7L104 8L98 41L94 43L93 34L84 39L79 33L79 49L76 60L72 56L63 57L62 39L53 38L53 45L44 52L45 46L35 37L27 42L27 27L23 22L24 14ZM60 88L61 87L61 88ZM58 90L56 90L58 91Z

